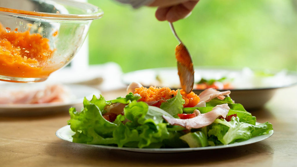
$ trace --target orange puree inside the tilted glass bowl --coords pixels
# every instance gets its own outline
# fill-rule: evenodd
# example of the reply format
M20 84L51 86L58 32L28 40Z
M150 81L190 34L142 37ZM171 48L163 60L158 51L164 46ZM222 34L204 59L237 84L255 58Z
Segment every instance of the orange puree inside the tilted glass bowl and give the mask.
M0 24L0 75L46 78L56 69L45 70L54 50L40 34L7 32Z

